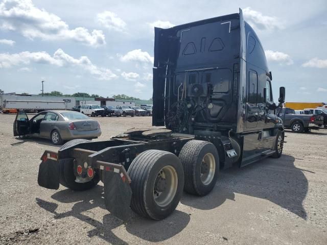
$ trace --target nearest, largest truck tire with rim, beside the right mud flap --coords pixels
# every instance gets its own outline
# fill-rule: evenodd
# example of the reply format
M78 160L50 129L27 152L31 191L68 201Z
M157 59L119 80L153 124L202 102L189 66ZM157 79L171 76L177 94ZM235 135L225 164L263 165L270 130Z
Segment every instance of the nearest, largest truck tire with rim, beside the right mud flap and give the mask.
M128 168L132 182L131 209L141 216L160 220L177 207L184 186L183 167L174 154L148 150Z

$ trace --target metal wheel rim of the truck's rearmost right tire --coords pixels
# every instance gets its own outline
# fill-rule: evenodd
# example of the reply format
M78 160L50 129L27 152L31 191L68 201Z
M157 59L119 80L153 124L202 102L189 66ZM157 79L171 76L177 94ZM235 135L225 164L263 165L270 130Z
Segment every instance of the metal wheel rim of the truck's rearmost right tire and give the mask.
M169 205L176 194L178 177L175 168L171 165L161 168L154 181L153 198L160 207Z

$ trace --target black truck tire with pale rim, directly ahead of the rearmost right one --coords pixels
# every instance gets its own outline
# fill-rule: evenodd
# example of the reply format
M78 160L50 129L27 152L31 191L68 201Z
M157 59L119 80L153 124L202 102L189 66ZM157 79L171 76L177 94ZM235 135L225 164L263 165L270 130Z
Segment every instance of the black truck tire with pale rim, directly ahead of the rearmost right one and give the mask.
M206 195L215 187L219 171L216 146L207 141L190 140L179 153L184 169L184 190L194 195Z

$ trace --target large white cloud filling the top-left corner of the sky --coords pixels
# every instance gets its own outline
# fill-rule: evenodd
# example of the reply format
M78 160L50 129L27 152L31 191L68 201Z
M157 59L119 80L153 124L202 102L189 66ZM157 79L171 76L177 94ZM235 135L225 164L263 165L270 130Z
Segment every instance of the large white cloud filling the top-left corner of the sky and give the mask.
M0 4L0 21L0 29L16 31L30 39L73 40L90 46L106 43L101 30L69 29L59 16L35 7L31 0L4 0Z

